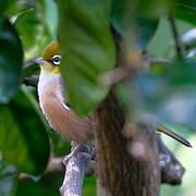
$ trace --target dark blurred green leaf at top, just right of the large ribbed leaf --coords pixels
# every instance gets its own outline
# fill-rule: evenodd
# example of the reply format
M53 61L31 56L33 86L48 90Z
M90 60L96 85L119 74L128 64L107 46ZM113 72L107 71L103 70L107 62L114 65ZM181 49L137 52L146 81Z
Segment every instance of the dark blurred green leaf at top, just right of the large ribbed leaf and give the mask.
M159 17L146 13L146 10L148 10L148 12L150 10L150 13L154 13L156 9L152 10L152 5L148 9L144 9L142 8L143 4L146 3L136 3L128 0L113 0L111 9L111 23L115 30L119 32L123 38L128 37L128 39L131 39L132 36L135 36L134 41L140 49L144 49L152 38L159 22ZM150 3L148 2L148 4ZM133 44L133 40L131 41Z

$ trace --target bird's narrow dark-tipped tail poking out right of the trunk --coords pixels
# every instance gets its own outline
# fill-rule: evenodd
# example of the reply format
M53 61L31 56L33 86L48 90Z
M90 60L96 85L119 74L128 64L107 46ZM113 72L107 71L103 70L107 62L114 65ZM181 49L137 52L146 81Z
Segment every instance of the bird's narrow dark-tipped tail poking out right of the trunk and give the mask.
M184 137L182 137L181 135L179 135L177 133L173 132L172 130L163 126L163 125L158 125L157 126L157 131L164 133L166 135L179 140L180 143L182 143L183 145L187 146L187 147L192 147L192 145L189 144L188 140L186 140Z

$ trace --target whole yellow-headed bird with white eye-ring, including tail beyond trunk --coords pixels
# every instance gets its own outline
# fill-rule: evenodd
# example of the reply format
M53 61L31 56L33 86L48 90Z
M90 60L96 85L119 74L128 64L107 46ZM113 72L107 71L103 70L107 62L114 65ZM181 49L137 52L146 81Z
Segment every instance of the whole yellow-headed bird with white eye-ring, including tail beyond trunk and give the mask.
M65 86L62 85L60 74L61 56L58 42L49 44L42 56L32 61L40 64L39 103L50 126L78 144L93 142L94 133L90 117L78 118L65 100ZM191 144L185 138L162 125L158 125L157 131L191 147Z

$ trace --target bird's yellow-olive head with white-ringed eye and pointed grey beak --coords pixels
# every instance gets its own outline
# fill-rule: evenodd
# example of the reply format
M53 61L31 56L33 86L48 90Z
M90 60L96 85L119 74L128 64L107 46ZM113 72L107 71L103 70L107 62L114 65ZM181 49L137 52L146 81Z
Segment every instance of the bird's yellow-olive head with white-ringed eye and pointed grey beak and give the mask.
M51 44L49 44L45 48L42 56L33 59L32 62L38 63L45 74L60 74L61 56L59 53L58 42L52 41Z

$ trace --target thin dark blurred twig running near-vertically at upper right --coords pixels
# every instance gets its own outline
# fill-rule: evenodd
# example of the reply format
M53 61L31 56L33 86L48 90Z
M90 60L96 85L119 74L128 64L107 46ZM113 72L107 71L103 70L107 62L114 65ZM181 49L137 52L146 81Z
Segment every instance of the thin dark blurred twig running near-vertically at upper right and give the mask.
M180 41L180 37L179 37L179 33L177 33L177 28L176 28L176 24L175 24L175 20L173 17L173 14L171 14L169 16L169 22L171 24L173 38L174 38L174 41L175 41L176 57L177 57L179 60L182 60L183 59L183 49L182 49L182 45L181 45L181 41Z

